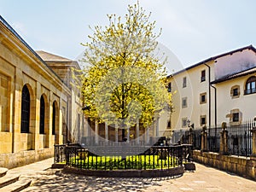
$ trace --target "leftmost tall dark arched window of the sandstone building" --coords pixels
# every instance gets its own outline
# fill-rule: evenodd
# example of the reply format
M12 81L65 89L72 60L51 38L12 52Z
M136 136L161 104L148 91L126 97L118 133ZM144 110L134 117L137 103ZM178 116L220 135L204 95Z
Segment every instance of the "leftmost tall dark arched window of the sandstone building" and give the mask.
M21 133L29 132L29 120L30 120L30 94L26 85L22 88L21 95Z

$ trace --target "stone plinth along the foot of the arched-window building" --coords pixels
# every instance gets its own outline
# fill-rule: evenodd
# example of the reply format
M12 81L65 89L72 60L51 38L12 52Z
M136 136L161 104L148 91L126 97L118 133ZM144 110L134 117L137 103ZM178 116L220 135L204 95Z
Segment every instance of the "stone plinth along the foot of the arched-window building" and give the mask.
M12 154L0 154L0 167L14 168L25 166L54 156L54 148L20 151ZM54 163L54 162L53 162Z

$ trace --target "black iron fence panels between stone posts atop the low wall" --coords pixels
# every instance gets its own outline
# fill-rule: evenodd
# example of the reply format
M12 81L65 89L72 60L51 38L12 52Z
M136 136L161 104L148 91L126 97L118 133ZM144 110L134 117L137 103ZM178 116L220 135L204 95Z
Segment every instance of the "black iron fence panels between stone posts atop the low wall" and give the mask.
M237 122L237 125L234 125L234 123L226 125L228 154L248 157L253 153L252 129L255 125L253 119L240 124ZM194 149L200 150L201 131L202 129L173 131L172 141L191 143ZM207 127L207 151L219 152L221 131L223 131L221 125ZM189 141L189 136L192 137L191 141Z

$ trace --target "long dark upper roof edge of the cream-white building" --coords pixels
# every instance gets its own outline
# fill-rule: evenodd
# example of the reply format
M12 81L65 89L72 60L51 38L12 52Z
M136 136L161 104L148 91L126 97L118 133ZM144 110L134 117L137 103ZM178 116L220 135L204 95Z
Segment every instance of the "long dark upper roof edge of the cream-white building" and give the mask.
M232 54L234 54L234 53L236 53L236 52L239 52L239 51L242 51L242 50L244 50L244 49L252 49L252 50L256 53L256 49L255 49L255 48L253 47L253 45L251 44L251 45L248 45L248 46L246 46L246 47L242 47L242 48L240 48L240 49L231 50L231 51L226 52L226 53L224 53L224 54L212 56L212 57L210 57L210 58L208 58L208 59L206 59L206 60L204 60L204 61L201 61L201 62L196 63L195 65L186 67L186 68L184 68L183 70L178 71L177 73L172 73L171 75L168 75L167 78L170 78L170 77L172 77L172 76L174 76L174 75L177 75L178 73L183 73L184 71L187 71L187 70L189 70L189 69L191 69L191 68L194 68L194 67L200 66L200 65L202 65L202 64L205 64L205 63L207 63L208 61L213 61L213 60L216 60L216 59L218 59L218 58L220 58L220 57L223 57L223 56L226 56L226 55L232 55Z

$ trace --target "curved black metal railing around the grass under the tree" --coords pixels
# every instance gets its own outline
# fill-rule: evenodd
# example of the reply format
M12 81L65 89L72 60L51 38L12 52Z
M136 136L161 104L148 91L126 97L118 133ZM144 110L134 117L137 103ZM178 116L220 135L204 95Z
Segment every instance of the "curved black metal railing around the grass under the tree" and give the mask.
M62 149L64 147L64 149ZM61 150L60 150L61 148ZM79 146L55 145L56 159L85 170L152 170L169 169L183 166L183 162L192 160L192 145L177 146L95 146L90 148ZM63 157L63 155L65 157Z

